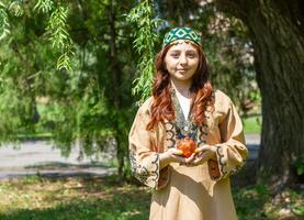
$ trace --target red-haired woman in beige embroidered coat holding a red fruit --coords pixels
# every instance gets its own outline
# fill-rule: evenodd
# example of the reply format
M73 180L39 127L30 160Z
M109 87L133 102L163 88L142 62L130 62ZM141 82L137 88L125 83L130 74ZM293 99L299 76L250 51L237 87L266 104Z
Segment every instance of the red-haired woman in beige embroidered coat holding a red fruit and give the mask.
M229 175L248 151L232 100L211 86L200 34L190 28L168 32L156 72L153 97L130 132L133 172L155 189L150 219L236 219ZM196 148L184 156L179 147L190 142Z

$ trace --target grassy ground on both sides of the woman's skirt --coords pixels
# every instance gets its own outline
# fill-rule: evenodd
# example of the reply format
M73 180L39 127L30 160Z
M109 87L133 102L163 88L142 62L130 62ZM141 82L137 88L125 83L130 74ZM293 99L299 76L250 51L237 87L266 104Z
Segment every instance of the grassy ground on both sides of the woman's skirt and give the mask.
M304 215L303 193L284 191L273 204L263 186L233 190L239 220L277 220L289 208ZM146 187L119 185L112 177L46 179L27 177L0 183L1 220L146 220L150 193Z

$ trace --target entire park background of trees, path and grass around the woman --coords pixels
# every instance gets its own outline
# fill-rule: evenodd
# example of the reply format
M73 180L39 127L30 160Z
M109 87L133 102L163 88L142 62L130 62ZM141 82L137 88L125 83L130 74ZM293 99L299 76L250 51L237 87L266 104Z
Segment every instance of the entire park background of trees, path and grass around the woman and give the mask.
M238 218L304 218L303 14L300 0L1 0L0 219L147 219L127 135L176 26L201 31L244 122Z

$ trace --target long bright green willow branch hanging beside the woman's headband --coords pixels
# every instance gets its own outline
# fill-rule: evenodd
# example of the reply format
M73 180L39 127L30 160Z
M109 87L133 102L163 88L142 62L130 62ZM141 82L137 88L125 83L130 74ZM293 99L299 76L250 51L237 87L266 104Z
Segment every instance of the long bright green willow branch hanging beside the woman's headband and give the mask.
M135 86L132 92L140 94L140 102L151 95L155 43L158 40L154 30L159 23L158 19L153 19L153 1L145 0L127 14L127 21L136 26L134 47L140 55L137 64L139 76L133 81Z

